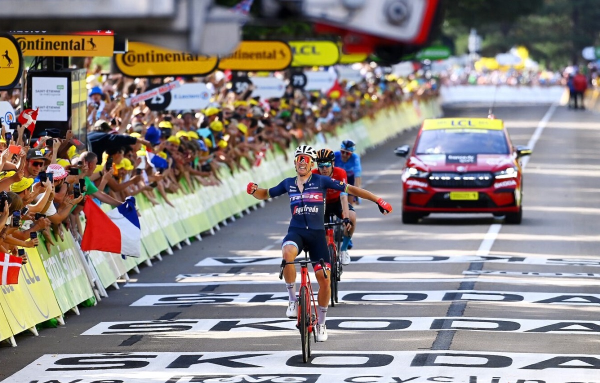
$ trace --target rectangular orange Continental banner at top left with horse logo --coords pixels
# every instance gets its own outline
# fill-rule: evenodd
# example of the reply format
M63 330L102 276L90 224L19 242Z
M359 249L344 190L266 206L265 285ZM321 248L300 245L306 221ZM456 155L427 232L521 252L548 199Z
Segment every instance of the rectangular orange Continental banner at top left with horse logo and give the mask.
M14 35L23 56L111 57L113 35Z

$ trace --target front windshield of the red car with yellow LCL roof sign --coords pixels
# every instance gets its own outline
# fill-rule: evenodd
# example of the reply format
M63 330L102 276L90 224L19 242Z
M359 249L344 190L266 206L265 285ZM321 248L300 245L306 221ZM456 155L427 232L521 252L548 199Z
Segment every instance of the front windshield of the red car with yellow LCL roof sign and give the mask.
M502 130L434 129L421 132L416 154L509 154Z

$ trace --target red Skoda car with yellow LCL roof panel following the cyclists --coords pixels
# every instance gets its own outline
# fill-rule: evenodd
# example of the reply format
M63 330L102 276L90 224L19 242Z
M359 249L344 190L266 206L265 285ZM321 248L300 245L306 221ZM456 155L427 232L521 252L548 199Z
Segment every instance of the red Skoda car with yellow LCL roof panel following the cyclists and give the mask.
M523 176L520 158L502 120L425 119L415 145L395 149L407 157L402 173L402 222L430 213L491 213L521 223Z

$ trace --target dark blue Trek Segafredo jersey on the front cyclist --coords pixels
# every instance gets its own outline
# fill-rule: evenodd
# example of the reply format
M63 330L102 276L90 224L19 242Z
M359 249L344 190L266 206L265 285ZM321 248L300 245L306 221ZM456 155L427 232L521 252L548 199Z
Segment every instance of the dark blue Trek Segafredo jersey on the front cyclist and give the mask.
M277 197L287 193L290 196L292 220L290 226L325 230L325 198L327 189L346 191L346 182L313 174L304 184L302 194L296 186L296 177L286 178L277 186L268 190L269 197Z

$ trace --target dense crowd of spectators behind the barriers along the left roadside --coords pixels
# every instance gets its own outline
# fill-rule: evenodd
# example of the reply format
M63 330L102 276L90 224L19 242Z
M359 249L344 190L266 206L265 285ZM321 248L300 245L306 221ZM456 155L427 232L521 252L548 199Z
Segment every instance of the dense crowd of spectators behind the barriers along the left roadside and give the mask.
M12 137L3 127L0 220L10 225L0 232L0 250L16 253L18 246L37 246L37 239L29 240L32 232L41 232L48 250L65 229L79 239L85 195L113 206L140 194L152 204L173 205L173 193L218 185L227 172L257 166L268 151L286 153L314 139L325 145L326 134L335 135L342 124L434 92L426 81L407 91L400 80L366 76L359 83L342 80L329 91L289 86L281 97L263 100L253 97L252 86L233 92L228 76L133 79L95 68L88 72L86 143L70 130L61 136L47 129L46 135L29 139L23 127ZM215 89L211 103L201 110L169 112L152 111L143 102L127 106L127 98L174 80L205 82ZM13 103L18 114L18 89L0 92L0 100ZM327 145L335 148L339 142ZM16 212L19 219L13 218Z

